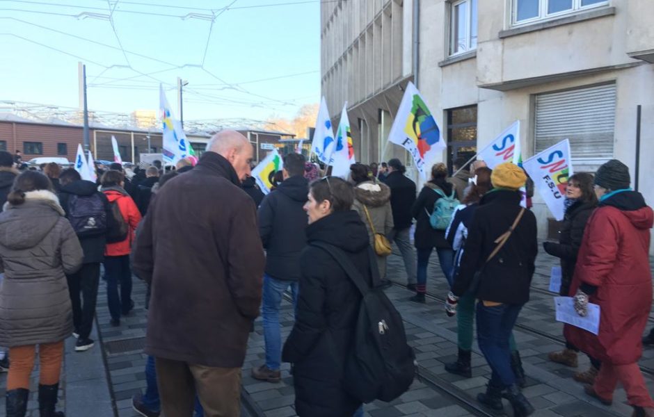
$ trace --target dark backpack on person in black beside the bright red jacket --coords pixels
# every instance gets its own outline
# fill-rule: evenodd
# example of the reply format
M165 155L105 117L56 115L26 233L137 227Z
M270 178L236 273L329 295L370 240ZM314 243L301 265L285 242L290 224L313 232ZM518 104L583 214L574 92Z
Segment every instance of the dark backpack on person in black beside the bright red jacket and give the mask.
M102 195L71 195L68 200L68 220L80 238L106 233L107 218Z

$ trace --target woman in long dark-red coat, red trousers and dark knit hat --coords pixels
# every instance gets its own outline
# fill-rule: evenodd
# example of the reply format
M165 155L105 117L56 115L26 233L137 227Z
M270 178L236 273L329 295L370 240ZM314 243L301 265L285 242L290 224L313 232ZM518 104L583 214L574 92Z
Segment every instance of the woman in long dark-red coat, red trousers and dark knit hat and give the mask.
M608 405L621 382L635 409L633 416L644 417L654 416L654 401L638 366L652 303L648 250L654 213L629 185L628 167L615 159L596 174L600 203L584 232L571 294L580 316L586 315L589 302L599 304L599 334L570 325L564 333L602 362L595 383L584 387L586 393Z

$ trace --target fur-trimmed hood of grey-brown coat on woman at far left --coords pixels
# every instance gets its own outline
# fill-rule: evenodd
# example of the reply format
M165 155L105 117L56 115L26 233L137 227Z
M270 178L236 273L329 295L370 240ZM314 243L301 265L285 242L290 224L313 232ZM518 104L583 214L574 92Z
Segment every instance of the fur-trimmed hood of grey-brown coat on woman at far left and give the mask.
M65 215L59 199L47 190L25 193L25 202L8 202L0 214L0 244L14 250L38 245Z

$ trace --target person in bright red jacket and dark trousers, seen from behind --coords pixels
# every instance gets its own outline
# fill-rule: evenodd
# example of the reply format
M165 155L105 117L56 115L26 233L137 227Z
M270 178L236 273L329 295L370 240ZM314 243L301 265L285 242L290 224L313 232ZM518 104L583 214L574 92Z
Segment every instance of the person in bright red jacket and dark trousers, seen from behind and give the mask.
M107 243L104 250L104 275L106 278L106 297L111 314L111 325L120 325L120 316L125 316L134 307L131 300L131 269L129 252L134 241L134 231L141 222L141 212L136 203L125 191L125 176L120 171L107 171L102 175L100 189L109 203L115 202L120 208L122 219L127 223L127 238L120 242ZM120 295L118 295L120 283Z

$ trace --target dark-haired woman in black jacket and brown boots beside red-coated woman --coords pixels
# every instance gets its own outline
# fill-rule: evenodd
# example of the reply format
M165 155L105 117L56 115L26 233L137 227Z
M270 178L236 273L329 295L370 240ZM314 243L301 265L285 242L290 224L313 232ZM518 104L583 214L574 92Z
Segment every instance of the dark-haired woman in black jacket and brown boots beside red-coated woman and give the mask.
M591 214L597 207L597 197L593 190L593 175L582 172L574 174L568 179L566 188L566 215L559 243L545 242L545 252L561 259L561 290L559 295L570 295L575 265L577 265L577 252L582 245L584 229ZM572 343L566 341L566 348L561 352L551 352L549 359L552 362L562 363L577 368L577 352L579 350ZM600 368L600 361L591 359L591 368L583 373L575 373L575 380L586 384L593 384Z

